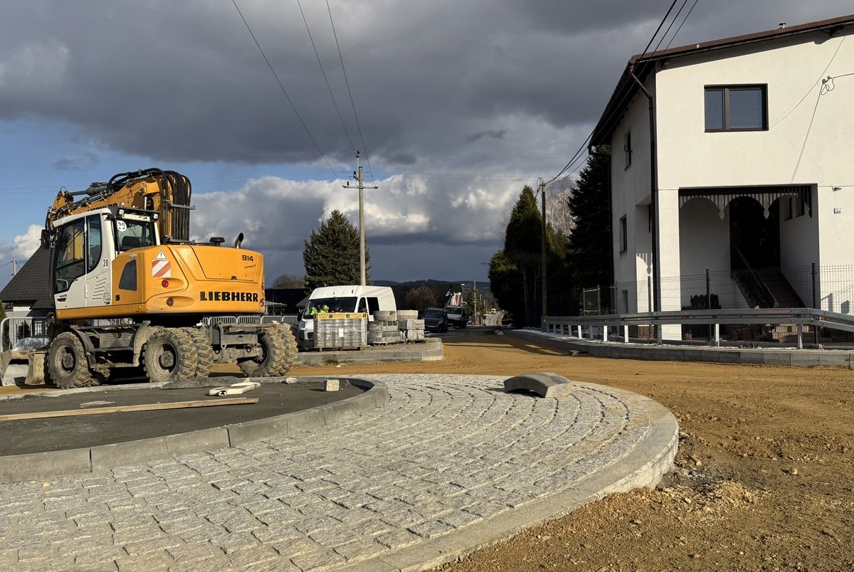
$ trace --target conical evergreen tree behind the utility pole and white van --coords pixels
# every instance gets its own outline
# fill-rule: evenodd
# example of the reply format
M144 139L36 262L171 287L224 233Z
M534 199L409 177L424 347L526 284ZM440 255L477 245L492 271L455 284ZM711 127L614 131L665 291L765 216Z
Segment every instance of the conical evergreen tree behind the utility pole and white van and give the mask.
M371 283L367 266L371 256L365 249L366 283ZM306 288L360 283L359 230L341 211L332 211L305 241L302 262L306 267Z

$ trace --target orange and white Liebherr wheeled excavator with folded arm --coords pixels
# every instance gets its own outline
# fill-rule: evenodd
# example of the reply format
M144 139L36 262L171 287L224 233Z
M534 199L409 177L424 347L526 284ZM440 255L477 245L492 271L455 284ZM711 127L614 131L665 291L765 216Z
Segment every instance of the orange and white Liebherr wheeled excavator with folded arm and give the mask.
M156 168L60 190L41 241L53 249L56 310L44 371L58 387L98 385L114 368L140 365L151 382L208 376L218 363L247 376L290 370L293 332L260 319L263 256L240 248L243 233L235 248L218 236L190 241L190 194L190 179Z

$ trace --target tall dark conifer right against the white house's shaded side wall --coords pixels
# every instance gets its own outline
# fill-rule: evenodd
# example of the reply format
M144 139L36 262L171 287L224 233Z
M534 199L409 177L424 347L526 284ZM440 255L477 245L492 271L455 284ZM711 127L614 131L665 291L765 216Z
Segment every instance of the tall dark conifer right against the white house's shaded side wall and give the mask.
M600 146L578 173L569 198L573 227L570 260L578 288L606 289L611 285L611 209L609 204L609 148Z

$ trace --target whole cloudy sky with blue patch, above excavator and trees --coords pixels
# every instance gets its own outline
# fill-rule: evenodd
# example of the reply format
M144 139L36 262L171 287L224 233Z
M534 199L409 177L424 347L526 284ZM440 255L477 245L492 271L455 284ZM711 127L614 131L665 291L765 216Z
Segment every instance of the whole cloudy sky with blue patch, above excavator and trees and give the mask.
M268 282L301 276L321 219L358 223L355 149L372 277L485 281L520 190L582 145L671 0L236 3L0 0L0 287L61 187L150 166L192 181L194 237L243 231ZM687 0L661 45L851 11Z

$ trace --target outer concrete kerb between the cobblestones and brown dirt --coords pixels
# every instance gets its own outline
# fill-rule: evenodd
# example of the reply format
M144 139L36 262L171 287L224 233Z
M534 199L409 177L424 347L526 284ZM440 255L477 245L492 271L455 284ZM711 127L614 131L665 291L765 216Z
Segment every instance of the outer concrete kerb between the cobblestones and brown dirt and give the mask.
M573 382L579 385L592 385ZM477 525L383 557L343 567L346 572L396 570L415 572L452 562L488 546L508 540L542 522L565 517L584 505L613 493L625 493L640 487L655 487L670 471L679 447L679 425L676 417L657 401L622 389L608 388L646 408L649 430L646 436L623 457L596 471L579 486L537 499L528 505L506 511Z

